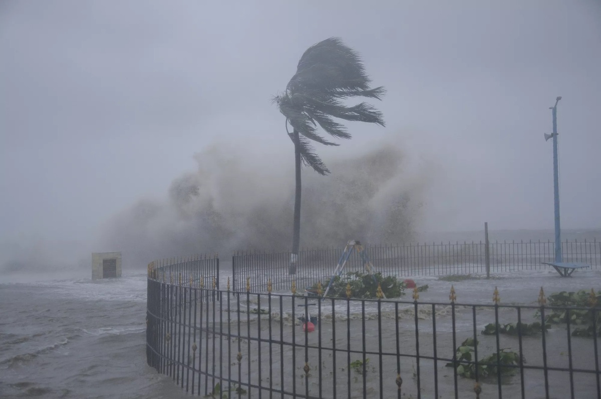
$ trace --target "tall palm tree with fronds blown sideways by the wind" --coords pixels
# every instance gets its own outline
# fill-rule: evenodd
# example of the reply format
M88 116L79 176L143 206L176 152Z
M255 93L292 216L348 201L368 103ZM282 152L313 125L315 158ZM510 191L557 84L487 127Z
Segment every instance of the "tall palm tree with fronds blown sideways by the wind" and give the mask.
M384 88L370 88L370 82L359 54L345 46L340 38L331 37L305 51L286 91L273 97L273 102L286 117L286 132L294 143L296 195L290 274L296 273L301 240L301 162L320 175L329 174L310 141L338 145L317 134L318 125L335 138L350 139L346 127L333 118L384 126L382 112L374 106L365 102L347 106L343 102L350 97L380 100L385 93ZM288 125L292 127L291 133Z

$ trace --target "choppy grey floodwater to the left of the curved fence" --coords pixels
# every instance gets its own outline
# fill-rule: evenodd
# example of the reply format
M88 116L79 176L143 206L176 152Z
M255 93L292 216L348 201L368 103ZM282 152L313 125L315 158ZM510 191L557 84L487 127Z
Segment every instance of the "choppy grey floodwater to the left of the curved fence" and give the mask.
M145 273L43 277L0 284L0 398L186 397L146 365Z

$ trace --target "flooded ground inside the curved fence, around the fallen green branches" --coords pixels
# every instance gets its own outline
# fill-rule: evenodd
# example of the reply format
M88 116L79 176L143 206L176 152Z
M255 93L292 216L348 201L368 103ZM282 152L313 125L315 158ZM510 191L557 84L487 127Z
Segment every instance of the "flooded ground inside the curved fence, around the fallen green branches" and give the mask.
M221 375L225 380L250 385L251 388L245 387L250 397L269 397L269 389L279 391L284 386L290 393L288 397L306 394L323 398L380 397L383 392L382 397L392 398L398 395L397 370L403 379L401 397L416 397L418 384L424 398L433 398L436 394L439 398L453 398L456 386L457 397L475 397L474 380L459 376L456 384L453 368L445 366L445 359L434 361L428 357L450 361L453 348L475 334L479 341L479 359L496 352L499 347L521 352L526 367L542 366L546 361L549 367L569 368L571 359L573 370L595 370L594 341L592 338L569 337L565 327L555 327L545 336L547 351L544 359L540 334L523 337L521 342L517 337L501 335L499 343L494 335L480 334L486 324L495 322L496 317L499 323L517 322L515 307L501 306L495 315L494 307L466 305L492 305L496 287L501 305L535 306L541 287L546 295L593 287L599 290L600 277L599 271L591 270L576 272L572 278L561 278L555 270L493 273L488 280L472 276L456 282L416 277L418 285L429 285L427 291L419 293L417 306L411 302L411 293L398 303L380 305L370 301L333 303L325 300L319 303L307 299L307 303L316 303L308 308L311 314L321 315L321 323L310 334L303 332L301 322L296 319L304 314L304 297L294 298L293 303L291 297L278 294L270 298L266 294L242 294L239 301L230 296L228 304L228 297L224 296L222 302L188 309L187 318L196 314L197 323L200 324L202 318L203 324L208 324L215 334L203 333L203 336L188 339L189 332L185 332L181 343L184 351L191 342L199 343L200 349L197 353L183 352L182 359L188 359L190 365L194 362L196 368L201 362L202 370ZM454 309L449 300L451 285L457 296ZM432 305L432 302L442 304ZM257 314L263 312L266 314ZM540 321L535 309L522 309L519 317L523 323ZM251 337L251 341L228 340L226 336L230 333ZM426 357L419 364L413 357L416 340L419 340L419 355ZM239 352L242 355L240 362L236 359ZM304 370L305 364L309 366L308 373ZM596 396L596 374L575 371L572 379L573 397ZM195 380L198 383L198 377ZM209 394L216 383L224 382L202 377L201 394ZM572 397L569 372L549 371L547 383L549 397ZM225 385L228 385L227 381ZM481 397L499 397L496 377L481 380L481 386ZM514 376L502 377L502 397L521 397L522 389L526 397L546 397L543 371L525 370L523 374L518 371Z

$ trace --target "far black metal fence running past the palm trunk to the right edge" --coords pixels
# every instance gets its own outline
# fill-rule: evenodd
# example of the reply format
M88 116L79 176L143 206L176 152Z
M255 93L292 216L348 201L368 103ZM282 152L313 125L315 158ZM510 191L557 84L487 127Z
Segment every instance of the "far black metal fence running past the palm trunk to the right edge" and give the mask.
M542 241L494 242L489 243L489 264L492 272L510 272L523 269L543 269L549 266L542 262L555 257L555 244ZM601 267L601 242L562 242L563 260L584 262L593 268ZM232 258L232 289L246 290L246 278L252 291L264 291L266 278L272 280L274 290L286 290L291 281L311 285L328 279L340 259L343 248L303 250L299 253L295 275L288 275L290 252L270 253L261 251L236 252ZM376 271L386 275L424 276L486 273L486 243L432 243L410 245L368 246L367 254ZM361 258L353 255L346 270L364 269Z

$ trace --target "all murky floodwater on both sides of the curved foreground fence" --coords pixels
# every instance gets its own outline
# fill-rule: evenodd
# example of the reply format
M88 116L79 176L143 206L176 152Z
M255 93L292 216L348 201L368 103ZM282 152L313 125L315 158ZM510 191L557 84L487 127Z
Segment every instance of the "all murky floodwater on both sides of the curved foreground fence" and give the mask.
M231 273L225 262L221 264L221 287L225 287L225 279ZM561 290L599 289L601 272L599 270L582 270L575 272L572 278L560 278L554 270L539 270L528 272L514 272L505 275L495 275L495 278L469 279L461 282L439 281L438 278L419 278L415 280L418 285L429 284L429 290L420 293L419 303L445 302L448 303L451 284L454 284L457 303L492 303L493 290L498 287L501 303L522 303L534 305L540 287L545 287L546 294ZM410 295L410 293L409 293ZM276 298L276 296L273 296ZM224 297L225 299L225 297ZM410 299L407 297L407 299ZM273 299L272 299L273 300ZM260 306L267 305L266 296L261 296ZM242 308L258 307L257 298L251 298L251 303L246 303L245 295L240 297ZM297 304L302 304L304 299L299 299ZM159 374L146 365L145 352L145 311L146 311L146 275L144 273L125 274L119 279L91 281L87 276L78 278L63 278L51 281L26 281L22 279L0 284L0 397L1 398L185 398L190 397L175 385L170 377ZM231 307L237 308L237 303L231 298ZM372 397L374 392L379 392L380 376L382 386L386 392L385 397L396 397L397 386L397 340L406 353L415 351L415 320L412 304L400 304L400 317L395 323L394 305L388 305L386 317L380 321L374 317L374 304L366 305L366 313L370 315L365 321L365 327L359 315L361 305L353 305L350 309L351 318L347 320L346 305L337 305L335 308L335 323L332 324L332 309L328 301L322 302L324 314L322 323L315 332L305 335L301 326L293 323L291 303L289 299L282 299L282 309L279 310L279 299L272 306L272 314L261 316L261 338L272 337L279 340L280 332L284 341L294 339L297 343L307 343L313 346L319 344L331 350L322 352L319 359L316 351L304 348L291 350L290 347L272 345L273 362L268 362L270 347L266 341L251 343L251 347L244 340L220 341L219 338L204 337L205 341L198 340L199 346L205 345L203 356L216 355L215 367L223 370L224 376L231 373L237 377L238 372L243 379L257 379L263 386L277 386L281 383L281 364L284 362L285 379L296 379L297 394L304 394L309 389L310 394L319 395L319 373L321 373L322 395L334 397L333 387L337 387L337 397L347 397L349 382L349 359L335 348L368 352L379 350L380 342L377 340L378 329L382 330L383 350L389 355L382 356L382 372L380 373L380 356L366 355L369 361L366 364L365 374L350 370L350 383L352 397L361 397L364 389L367 397ZM216 309L227 302L215 303ZM203 317L209 315L211 325L218 330L227 328L227 317L235 320L235 313L216 312L216 322L213 324L213 303L209 304L209 312L204 312ZM200 309L197 309L200 317ZM279 313L273 315L273 312ZM295 309L302 312L302 306ZM515 321L515 311L500 312L502 320ZM452 320L450 305L439 305L436 314L436 339L438 356L452 356L450 348L453 346ZM223 323L218 323L221 315ZM471 308L457 306L456 313L456 343L461 343L465 338L473 337ZM523 314L529 321L534 317ZM258 332L257 315L242 314L240 326ZM478 309L477 330L481 330L487 323L494 321L494 311ZM349 324L347 324L349 323ZM230 321L230 326L237 328L235 321ZM256 326L256 327L255 327ZM335 340L333 339L335 326ZM397 334L395 328L400 329ZM348 328L350 327L350 329ZM365 328L365 334L363 330ZM433 353L433 326L432 306L418 306L418 330L420 355ZM350 340L347 337L350 333ZM294 338L292 335L294 334ZM209 340L207 340L209 338ZM274 338L274 339L276 339ZM365 340L364 340L365 338ZM217 343L216 352L213 352L213 340ZM496 348L493 337L484 337L478 334L481 346L478 350L485 355ZM549 365L561 367L568 364L566 346L566 330L550 330L548 344L553 350L548 353ZM219 342L222 342L221 362L219 362ZM210 343L209 347L206 346ZM230 352L227 352L228 344ZM240 344L240 350L238 345ZM501 347L516 349L517 339L503 337ZM539 346L539 347L537 347ZM540 338L524 338L526 364L539 364L542 359L540 353ZM586 338L573 338L571 348L573 359L577 367L591 366L594 359L591 351L591 340ZM237 352L243 353L243 359L238 364ZM200 353L200 350L199 350ZM334 355L335 353L335 355ZM248 356L250 354L250 356ZM261 354L261 358L259 358ZM294 356L294 357L293 357ZM305 356L310 364L310 376L302 376L305 372ZM203 358L205 359L205 358ZM335 364L334 364L335 359ZM350 362L363 360L361 353L354 353ZM195 359L195 361L198 361ZM594 360L593 360L594 362ZM212 364L210 365L212 367ZM260 367L259 367L260 366ZM334 378L334 367L337 368ZM576 367L576 365L575 365ZM424 398L433 397L435 389L433 373L435 365L432 361L423 360L419 367L411 358L401 359L401 375L403 376L403 392L406 397L416 397L416 373L421 376L421 386ZM295 371L293 371L293 369ZM344 369L344 370L343 370ZM251 373L248 373L251 370ZM258 371L261 371L260 381ZM442 398L453 397L453 369L439 364L438 372L439 395ZM270 374L271 373L271 376ZM332 373L332 374L330 374ZM415 373L415 376L414 376ZM365 379L362 377L365 375ZM302 377L301 377L302 376ZM564 398L569 395L568 373L550 373L551 397ZM594 397L596 386L590 376L574 374L577 398ZM365 381L365 386L363 382ZM509 377L504 381L503 397L519 397L520 376ZM542 372L528 371L525 375L527 397L545 397ZM202 380L204 388L204 379ZM215 381L207 380L207 386ZM472 380L459 377L459 397L474 397ZM288 385L288 383L286 383ZM214 385L211 385L214 386ZM568 389L568 391L566 391ZM210 388L209 388L210 391ZM465 394L463 394L463 393ZM483 397L497 397L496 385L483 384ZM258 397L258 390L251 389L250 397ZM201 396L204 391L201 392ZM268 397L263 392L264 397Z

